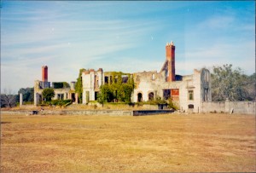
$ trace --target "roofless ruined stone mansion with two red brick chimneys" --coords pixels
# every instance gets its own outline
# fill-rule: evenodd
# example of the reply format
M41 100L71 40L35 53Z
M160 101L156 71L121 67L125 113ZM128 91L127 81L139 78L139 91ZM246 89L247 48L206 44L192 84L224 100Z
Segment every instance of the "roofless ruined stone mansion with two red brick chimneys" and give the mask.
M134 80L135 89L131 94L131 102L149 101L160 97L177 104L181 111L201 112L201 103L212 101L211 75L206 68L194 70L190 75L177 75L175 72L175 45L166 43L166 60L160 72L135 72L129 74ZM90 69L82 72L83 104L96 101L97 93L103 84L111 84L115 80L110 72ZM127 75L122 76L123 83L127 82ZM78 103L78 95L74 92L75 83L66 88L55 89L54 99L72 99ZM34 104L42 100L42 91L49 88L48 67L42 66L42 81L34 84ZM52 87L54 88L54 87Z

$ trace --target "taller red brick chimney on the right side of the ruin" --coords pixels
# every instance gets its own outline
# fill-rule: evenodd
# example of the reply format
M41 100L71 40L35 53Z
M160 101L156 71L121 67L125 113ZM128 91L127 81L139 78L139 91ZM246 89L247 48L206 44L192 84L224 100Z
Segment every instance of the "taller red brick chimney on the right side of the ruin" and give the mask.
M175 81L175 46L174 43L166 43L166 60L168 61L167 82Z

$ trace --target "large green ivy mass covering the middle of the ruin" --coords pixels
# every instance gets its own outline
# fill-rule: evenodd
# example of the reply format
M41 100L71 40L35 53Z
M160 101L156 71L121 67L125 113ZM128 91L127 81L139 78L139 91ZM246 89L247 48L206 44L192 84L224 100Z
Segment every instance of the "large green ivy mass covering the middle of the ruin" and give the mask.
M123 82L122 75L127 75L127 83ZM131 74L123 72L111 72L112 81L101 86L101 91L97 95L97 101L103 102L125 102L131 103L131 93L134 89L134 81Z

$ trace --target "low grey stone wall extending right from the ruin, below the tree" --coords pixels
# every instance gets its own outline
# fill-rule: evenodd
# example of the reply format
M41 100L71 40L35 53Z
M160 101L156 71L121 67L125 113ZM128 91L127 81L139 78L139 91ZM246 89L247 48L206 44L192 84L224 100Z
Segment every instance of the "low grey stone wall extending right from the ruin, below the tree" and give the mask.
M201 102L201 112L255 114L255 101Z

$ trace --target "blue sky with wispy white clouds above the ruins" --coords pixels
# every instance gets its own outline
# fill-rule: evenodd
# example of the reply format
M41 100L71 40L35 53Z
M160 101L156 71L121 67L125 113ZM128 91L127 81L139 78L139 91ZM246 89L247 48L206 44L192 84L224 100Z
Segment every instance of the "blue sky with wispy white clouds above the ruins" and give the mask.
M1 1L1 92L41 80L76 81L79 69L157 71L166 43L176 73L232 64L255 72L255 2Z

